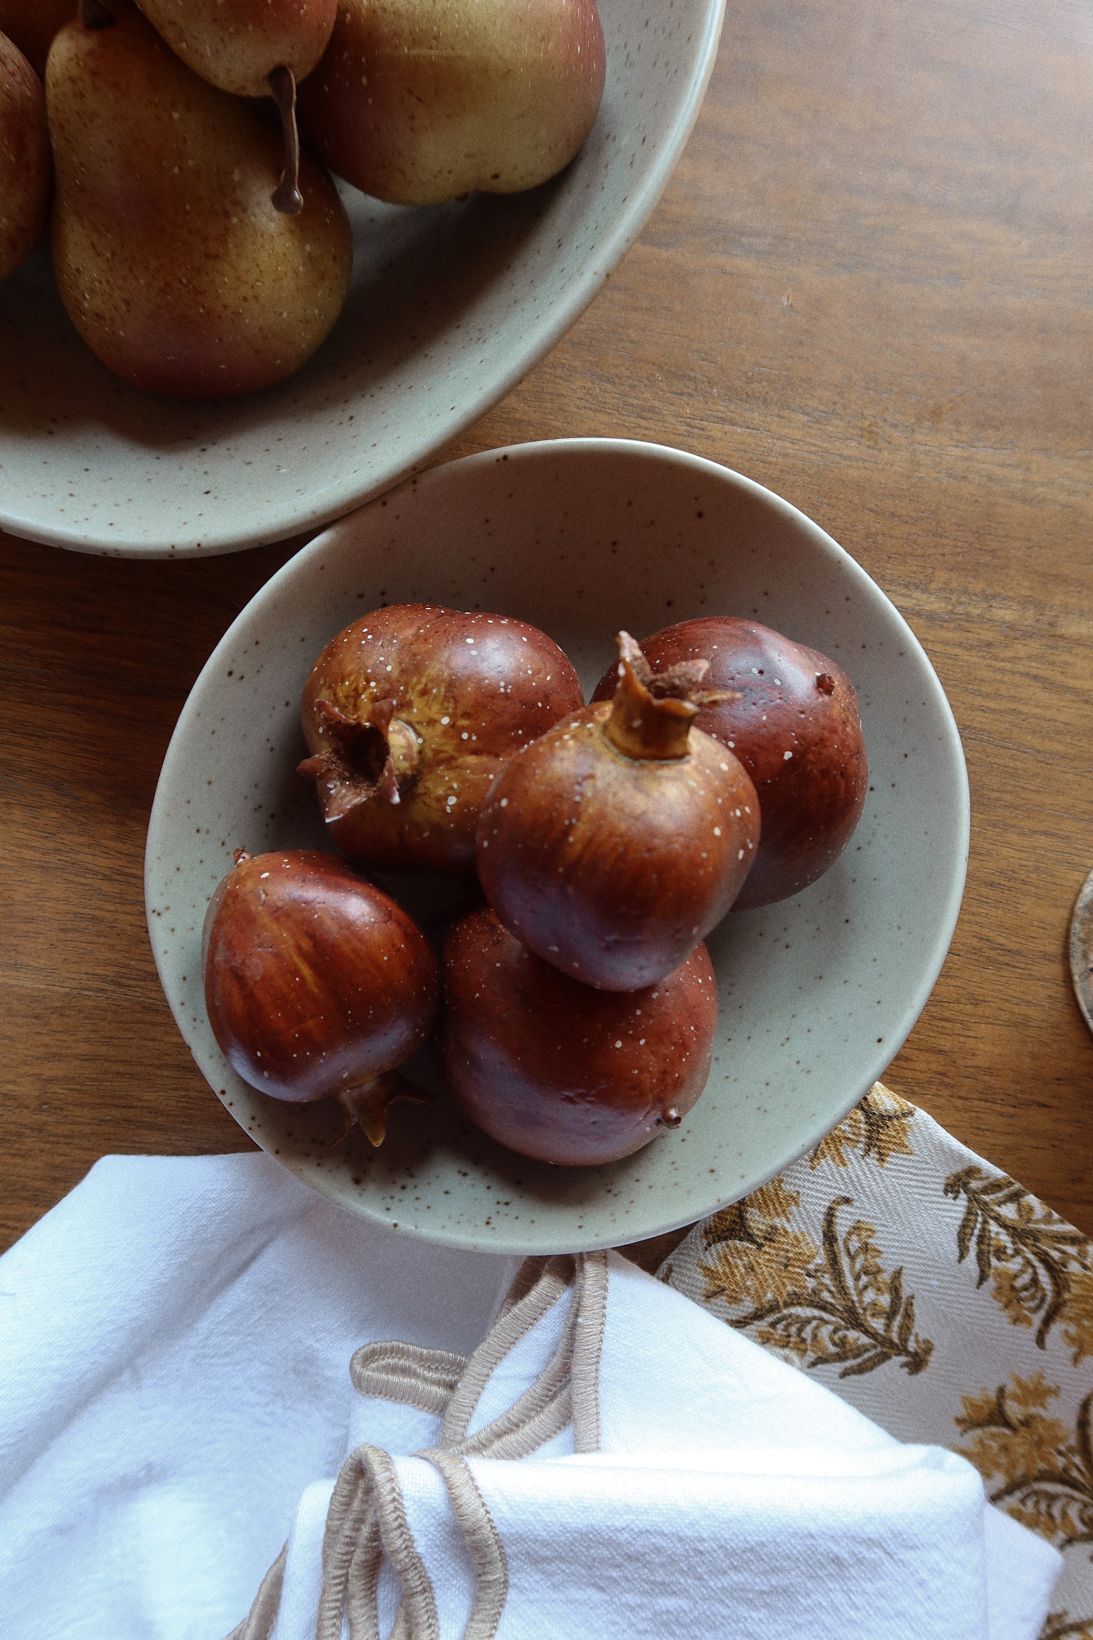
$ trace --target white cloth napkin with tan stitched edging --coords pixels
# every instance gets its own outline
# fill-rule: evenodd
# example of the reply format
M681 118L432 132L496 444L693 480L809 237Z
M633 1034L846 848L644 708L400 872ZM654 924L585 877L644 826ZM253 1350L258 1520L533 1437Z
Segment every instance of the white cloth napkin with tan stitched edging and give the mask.
M518 1273L251 1153L107 1158L0 1260L5 1640L223 1640L285 1540L249 1632L311 1640L377 1496L383 1635L1034 1640L1060 1566L616 1255Z

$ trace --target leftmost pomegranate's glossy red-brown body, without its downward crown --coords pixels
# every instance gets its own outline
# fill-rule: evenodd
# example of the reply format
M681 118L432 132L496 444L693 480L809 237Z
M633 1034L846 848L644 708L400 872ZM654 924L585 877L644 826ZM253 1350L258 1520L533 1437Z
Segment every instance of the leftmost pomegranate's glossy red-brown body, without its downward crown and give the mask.
M243 858L202 930L205 1005L231 1068L308 1102L392 1071L428 1038L436 956L390 895L334 854Z

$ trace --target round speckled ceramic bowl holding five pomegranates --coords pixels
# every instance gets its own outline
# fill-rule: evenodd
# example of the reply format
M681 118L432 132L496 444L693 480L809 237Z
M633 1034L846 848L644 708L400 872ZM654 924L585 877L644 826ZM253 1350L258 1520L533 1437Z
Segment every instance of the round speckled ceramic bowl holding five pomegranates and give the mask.
M233 850L328 846L298 702L323 645L375 605L516 615L590 690L619 626L755 615L854 679L870 759L860 827L798 899L729 913L710 951L719 1025L683 1125L606 1168L551 1168L442 1102L395 1105L385 1145L333 1145L341 1114L254 1092L205 1018L200 932ZM411 479L320 535L239 615L193 687L156 794L146 863L156 961L182 1035L236 1120L351 1212L495 1251L636 1241L698 1219L811 1148L918 1018L957 920L968 790L952 712L913 633L814 523L749 479L655 444L570 440ZM393 879L390 879L393 881ZM413 879L401 879L398 892ZM442 892L442 891L441 891ZM436 902L421 879L418 904ZM426 1066L420 1066L428 1074Z

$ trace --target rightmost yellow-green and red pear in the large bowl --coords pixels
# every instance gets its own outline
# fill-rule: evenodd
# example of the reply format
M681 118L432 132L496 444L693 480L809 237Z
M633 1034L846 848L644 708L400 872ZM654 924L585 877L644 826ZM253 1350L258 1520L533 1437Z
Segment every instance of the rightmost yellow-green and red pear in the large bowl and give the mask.
M595 0L339 0L300 125L365 194L436 205L556 175L603 80Z

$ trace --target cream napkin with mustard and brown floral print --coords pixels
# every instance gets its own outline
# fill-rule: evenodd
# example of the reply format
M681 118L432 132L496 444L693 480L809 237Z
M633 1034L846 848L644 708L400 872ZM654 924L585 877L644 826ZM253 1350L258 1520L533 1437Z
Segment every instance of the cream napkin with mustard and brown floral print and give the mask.
M968 1458L1064 1551L1041 1640L1093 1640L1086 1237L875 1082L657 1274L900 1440Z

